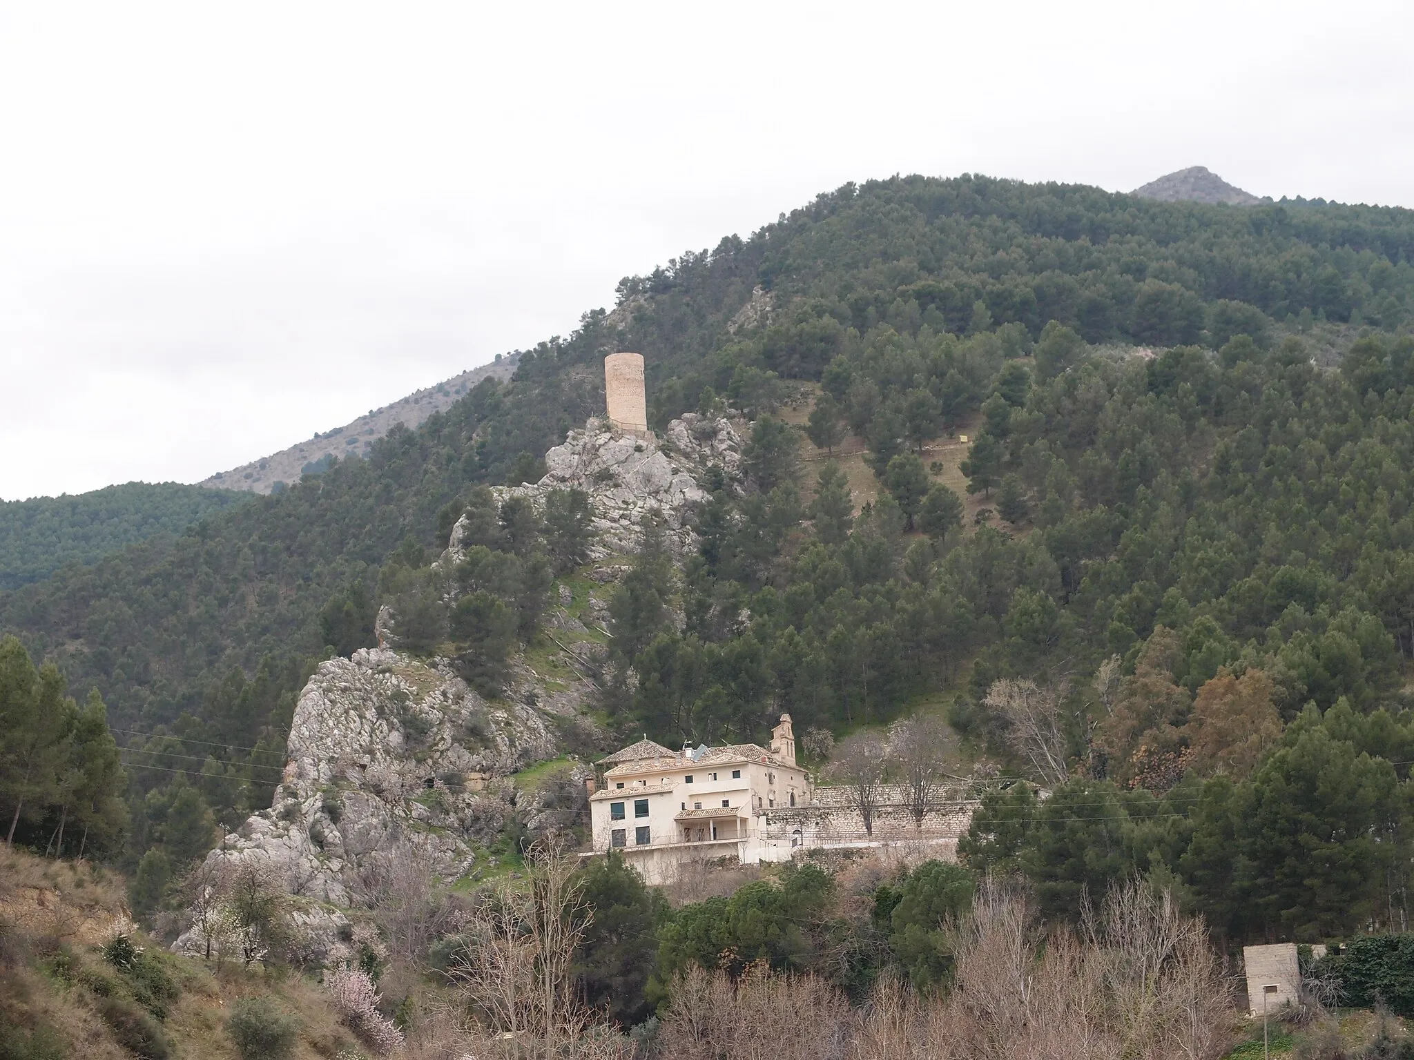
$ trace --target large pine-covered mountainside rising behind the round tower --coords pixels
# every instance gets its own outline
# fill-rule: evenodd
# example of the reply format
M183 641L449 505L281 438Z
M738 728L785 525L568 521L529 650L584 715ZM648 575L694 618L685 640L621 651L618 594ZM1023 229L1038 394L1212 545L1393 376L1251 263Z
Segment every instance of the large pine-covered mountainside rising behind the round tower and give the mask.
M369 459L0 595L0 630L75 693L96 685L123 739L173 726L144 760L259 772L312 661L370 643L400 585L380 577L389 557L426 565L478 485L537 478L602 408L604 353L633 349L656 425L724 404L755 423L742 489L704 483L700 555L649 557L615 599L636 681L614 685L612 724L747 739L789 709L840 732L943 693L960 729L1029 770L987 702L1022 678L1062 718L1060 776L1038 779L1077 767L1165 790L1202 765L1185 726L1223 667L1264 676L1249 698L1277 732L1307 702L1403 705L1411 254L1398 209L847 185L625 278L612 314ZM1316 336L1350 346L1339 369L1312 363ZM772 418L788 391L810 401L823 454ZM925 458L964 424L986 512ZM829 461L797 462L847 440L878 476L864 509ZM1167 712L1096 698L1103 666L1162 676ZM175 793L146 791L167 776L144 782L156 821Z

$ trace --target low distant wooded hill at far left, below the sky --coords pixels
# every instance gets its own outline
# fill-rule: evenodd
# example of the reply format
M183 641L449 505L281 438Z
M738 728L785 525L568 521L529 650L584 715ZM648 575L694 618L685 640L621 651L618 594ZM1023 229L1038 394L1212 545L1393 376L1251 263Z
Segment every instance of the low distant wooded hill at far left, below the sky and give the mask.
M129 482L90 493L0 500L0 589L90 564L154 534L180 534L243 497L178 482Z

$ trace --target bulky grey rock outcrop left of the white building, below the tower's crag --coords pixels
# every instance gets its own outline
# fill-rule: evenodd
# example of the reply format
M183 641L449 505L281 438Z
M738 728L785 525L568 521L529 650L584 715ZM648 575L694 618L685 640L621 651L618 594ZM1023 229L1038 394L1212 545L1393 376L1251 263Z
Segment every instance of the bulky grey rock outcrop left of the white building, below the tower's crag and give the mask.
M361 861L411 832L454 875L515 813L503 779L557 753L539 709L488 704L441 660L331 659L300 694L274 804L208 862L256 858L291 895L348 906Z

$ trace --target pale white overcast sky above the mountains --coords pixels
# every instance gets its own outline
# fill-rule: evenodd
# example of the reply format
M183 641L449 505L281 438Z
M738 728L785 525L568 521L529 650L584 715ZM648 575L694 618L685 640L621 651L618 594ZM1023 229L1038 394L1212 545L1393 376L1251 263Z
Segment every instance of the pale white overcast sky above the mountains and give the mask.
M197 481L844 181L1414 206L1407 3L0 0L0 497Z

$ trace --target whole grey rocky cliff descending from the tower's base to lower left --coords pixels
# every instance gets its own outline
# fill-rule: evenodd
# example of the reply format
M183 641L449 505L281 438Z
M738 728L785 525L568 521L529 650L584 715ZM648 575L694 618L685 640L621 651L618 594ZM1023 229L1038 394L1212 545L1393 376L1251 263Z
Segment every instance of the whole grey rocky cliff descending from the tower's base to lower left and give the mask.
M246 820L212 851L219 871L255 859L291 895L307 899L305 927L334 946L339 917L322 906L352 906L376 855L414 840L437 871L457 876L475 864L512 818L529 831L564 824L590 770L571 762L559 791L520 791L510 775L554 759L563 732L588 725L585 700L607 636L612 582L628 570L643 524L658 520L679 550L696 538L691 519L706 500L696 475L740 464L732 425L696 416L674 420L662 444L615 437L591 420L546 454L537 483L498 489L498 496L540 500L551 489L590 495L597 538L577 579L554 589L544 630L556 652L513 660L501 698L471 690L444 659L416 659L387 647L355 652L320 666L300 694L284 779L274 803ZM461 558L465 523L452 530L438 563ZM615 563L615 560L622 560ZM180 947L197 946L188 933ZM335 947L337 948L337 947Z

